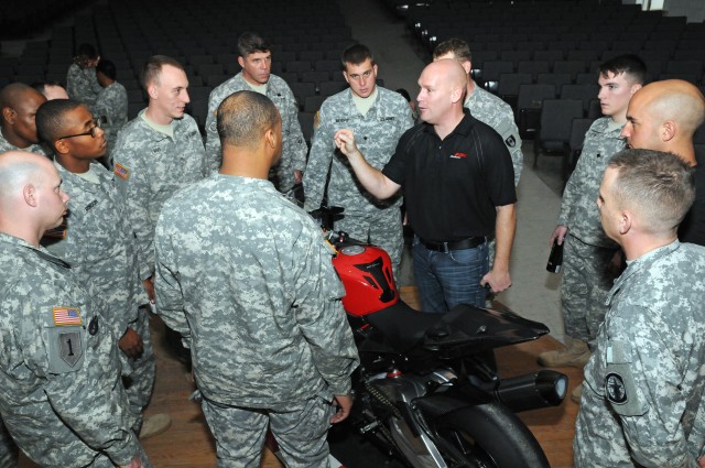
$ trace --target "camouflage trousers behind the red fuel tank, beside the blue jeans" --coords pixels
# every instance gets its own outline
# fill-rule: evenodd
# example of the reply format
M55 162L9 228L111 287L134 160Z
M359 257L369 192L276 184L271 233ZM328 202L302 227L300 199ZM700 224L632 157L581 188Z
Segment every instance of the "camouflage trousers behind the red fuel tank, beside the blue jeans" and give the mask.
M384 249L392 261L394 279L401 273L401 254L404 248L401 210L388 208L375 216L356 216L346 211L343 219L335 221L335 230L345 231L351 238L370 242Z

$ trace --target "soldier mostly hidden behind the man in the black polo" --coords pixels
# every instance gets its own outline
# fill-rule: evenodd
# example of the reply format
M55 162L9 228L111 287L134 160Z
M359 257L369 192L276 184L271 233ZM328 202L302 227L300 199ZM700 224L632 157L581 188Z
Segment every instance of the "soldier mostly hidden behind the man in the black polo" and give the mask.
M470 77L470 70L473 69L471 54L467 42L455 37L443 41L433 51L433 59L441 58L457 61L468 74L465 107L470 109L473 117L490 126L502 138L514 166L514 185L519 185L524 155L521 152L521 138L519 137L517 123L514 123L514 112L511 107L497 96L477 86L473 80Z

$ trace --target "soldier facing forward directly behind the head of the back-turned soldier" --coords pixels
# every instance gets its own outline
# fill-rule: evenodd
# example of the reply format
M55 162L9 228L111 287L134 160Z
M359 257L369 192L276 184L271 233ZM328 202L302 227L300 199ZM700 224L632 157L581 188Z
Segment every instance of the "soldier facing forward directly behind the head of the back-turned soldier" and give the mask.
M218 106L235 91L257 91L270 98L282 117L284 151L279 165L272 168L270 179L279 192L291 194L294 185L301 183L308 151L299 123L299 105L286 81L271 74L272 53L262 37L251 32L242 34L238 39L238 64L242 70L216 87L208 97L206 153L209 170L218 172L223 161L220 139L216 128Z

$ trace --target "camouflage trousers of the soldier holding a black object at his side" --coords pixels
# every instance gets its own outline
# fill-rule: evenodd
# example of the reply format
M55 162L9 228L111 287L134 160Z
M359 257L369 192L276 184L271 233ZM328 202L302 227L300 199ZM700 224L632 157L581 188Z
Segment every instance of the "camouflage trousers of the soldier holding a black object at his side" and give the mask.
M610 271L617 249L590 246L570 235L564 242L561 302L565 334L594 349L599 324L607 313L607 293L619 275Z

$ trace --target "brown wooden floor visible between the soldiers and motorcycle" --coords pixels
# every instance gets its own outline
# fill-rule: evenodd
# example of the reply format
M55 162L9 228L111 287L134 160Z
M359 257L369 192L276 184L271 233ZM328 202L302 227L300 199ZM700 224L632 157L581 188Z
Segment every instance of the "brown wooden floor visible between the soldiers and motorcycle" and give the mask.
M417 304L415 287L402 289L402 297L412 306ZM167 432L143 440L144 449L154 468L213 468L216 465L213 436L205 424L199 405L188 400L194 384L186 378L183 364L161 345L163 324L158 317L152 319L152 330L156 344L158 373L154 395L147 414L169 413L173 423ZM536 356L557 347L557 341L551 337L543 337L534 342L497 350L502 377L536 369ZM571 388L582 382L582 372L577 369L565 368L561 371L568 374ZM553 468L573 466L572 440L576 414L577 405L570 400L558 407L521 414L521 418L541 443ZM281 466L276 458L265 450L262 467ZM20 467L32 468L33 465L22 459Z

